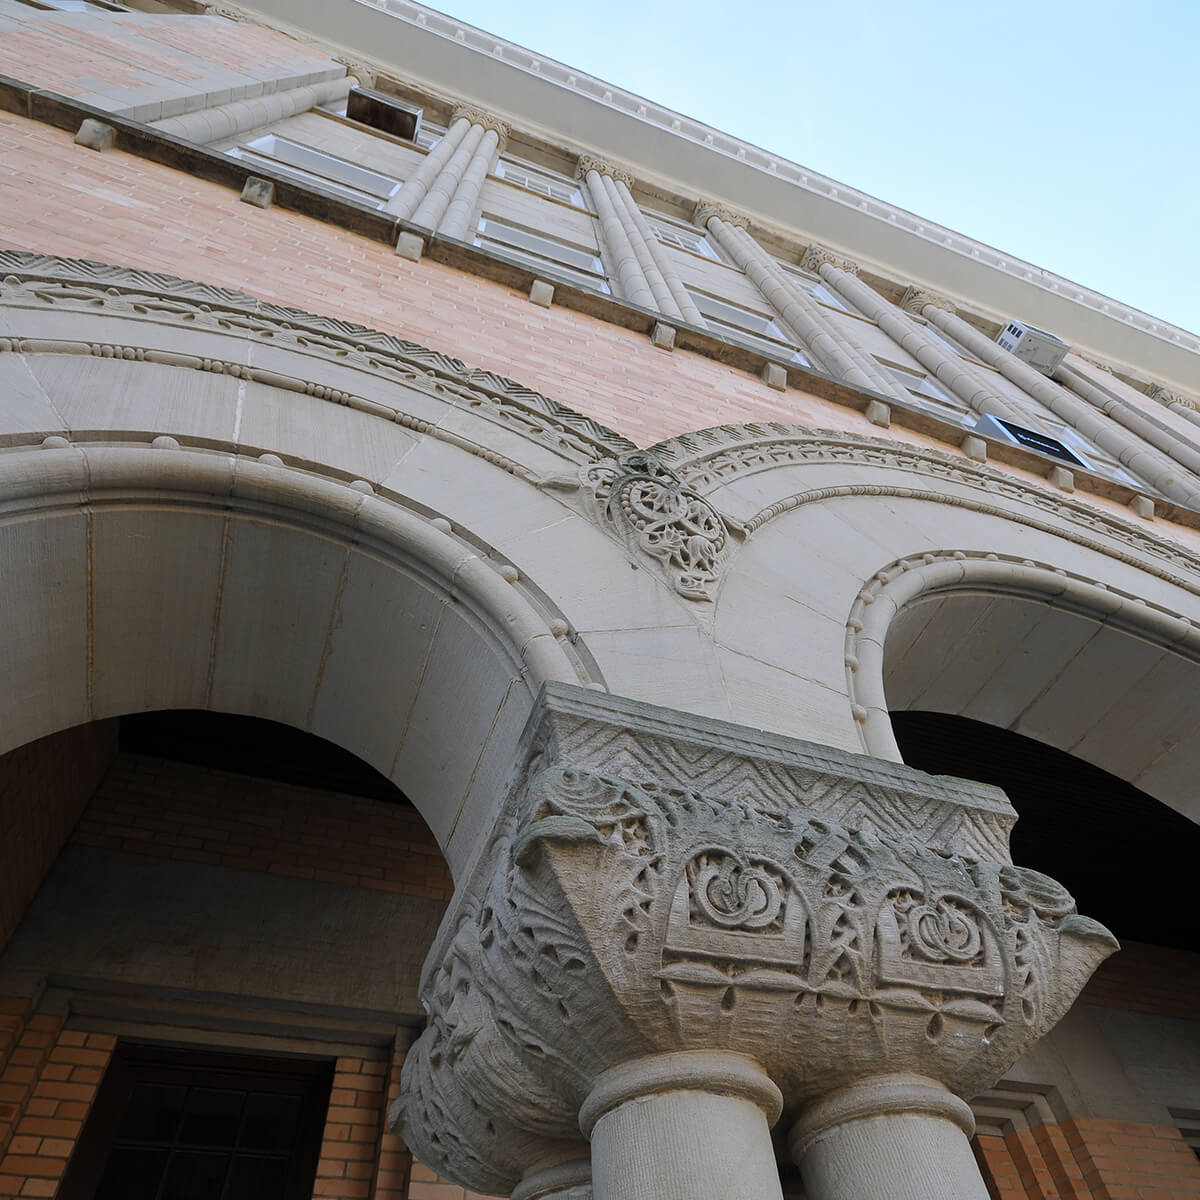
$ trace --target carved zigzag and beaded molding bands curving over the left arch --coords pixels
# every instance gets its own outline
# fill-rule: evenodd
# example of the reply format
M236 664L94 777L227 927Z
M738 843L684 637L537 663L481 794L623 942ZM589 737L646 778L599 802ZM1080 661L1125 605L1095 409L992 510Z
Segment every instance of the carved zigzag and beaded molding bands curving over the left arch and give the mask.
M448 403L508 425L541 445L578 463L626 454L634 444L596 421L490 371L467 367L458 359L390 334L318 317L283 305L257 300L244 292L176 278L157 271L112 266L85 259L58 258L26 251L0 250L0 305L54 306L109 311L157 324L210 329L282 346L346 366L361 367L400 384L421 388ZM132 361L164 361L216 373L260 379L275 386L359 408L406 424L403 414L336 389L313 385L245 364L222 362L188 354L169 354L133 346L107 346L7 338L0 349L22 353L86 353ZM418 432L443 437L428 422ZM452 436L451 436L452 437ZM508 460L473 448L464 449L505 466Z

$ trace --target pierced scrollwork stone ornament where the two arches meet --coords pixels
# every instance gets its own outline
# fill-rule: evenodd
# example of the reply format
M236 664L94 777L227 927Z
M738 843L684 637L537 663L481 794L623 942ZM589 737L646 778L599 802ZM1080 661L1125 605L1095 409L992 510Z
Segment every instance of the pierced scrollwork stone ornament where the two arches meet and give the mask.
M730 534L708 500L644 451L593 463L583 479L604 517L659 560L680 595L712 599Z

